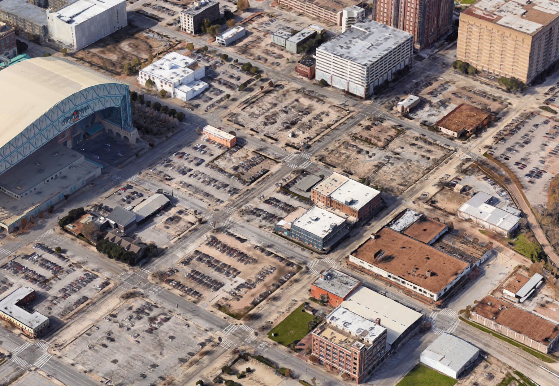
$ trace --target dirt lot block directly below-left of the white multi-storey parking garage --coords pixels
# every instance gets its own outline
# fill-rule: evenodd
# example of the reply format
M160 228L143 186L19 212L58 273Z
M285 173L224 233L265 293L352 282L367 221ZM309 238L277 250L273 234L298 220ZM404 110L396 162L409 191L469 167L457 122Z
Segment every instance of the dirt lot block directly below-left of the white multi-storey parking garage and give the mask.
M299 148L347 114L318 97L280 85L227 118L248 134Z

